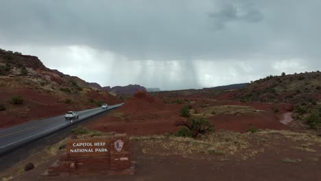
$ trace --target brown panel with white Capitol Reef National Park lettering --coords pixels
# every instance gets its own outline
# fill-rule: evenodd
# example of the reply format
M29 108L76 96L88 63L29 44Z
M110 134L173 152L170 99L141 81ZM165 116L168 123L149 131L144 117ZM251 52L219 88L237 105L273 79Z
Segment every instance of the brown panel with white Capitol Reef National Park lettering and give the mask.
M110 138L69 140L66 151L69 156L109 156Z

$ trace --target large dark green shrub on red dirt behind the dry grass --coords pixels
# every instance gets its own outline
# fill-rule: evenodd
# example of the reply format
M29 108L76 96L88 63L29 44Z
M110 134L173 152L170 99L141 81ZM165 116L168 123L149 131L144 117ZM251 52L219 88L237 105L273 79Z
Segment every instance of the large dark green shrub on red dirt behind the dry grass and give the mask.
M178 121L175 125L182 125L186 130L180 130L181 134L189 134L191 132L191 137L196 138L199 134L204 134L206 132L213 132L214 128L206 121L204 117L189 117L186 121ZM189 132L188 132L188 131Z

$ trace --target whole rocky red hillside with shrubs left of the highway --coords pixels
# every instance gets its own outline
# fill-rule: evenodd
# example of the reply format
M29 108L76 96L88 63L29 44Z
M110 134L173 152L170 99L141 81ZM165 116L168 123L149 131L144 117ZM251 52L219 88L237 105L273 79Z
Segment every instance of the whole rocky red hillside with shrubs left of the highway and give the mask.
M48 69L36 56L0 49L0 128L105 102L122 101L79 77Z

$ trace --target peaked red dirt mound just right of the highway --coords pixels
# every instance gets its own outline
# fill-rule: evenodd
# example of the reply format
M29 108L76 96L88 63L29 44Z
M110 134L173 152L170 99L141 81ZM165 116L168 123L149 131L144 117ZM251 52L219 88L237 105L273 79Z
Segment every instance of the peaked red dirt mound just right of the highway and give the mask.
M88 125L89 128L102 132L127 132L130 135L174 133L178 127L176 121L182 120L178 111L181 105L165 105L157 97L145 92L136 93L118 110ZM124 114L115 117L115 112Z

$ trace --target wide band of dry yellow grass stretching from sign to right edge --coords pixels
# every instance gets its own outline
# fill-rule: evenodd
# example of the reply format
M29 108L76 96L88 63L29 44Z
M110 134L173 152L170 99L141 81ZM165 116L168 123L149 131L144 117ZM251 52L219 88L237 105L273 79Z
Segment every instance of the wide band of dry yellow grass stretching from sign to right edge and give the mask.
M275 130L263 130L254 134L219 131L197 139L159 135L132 137L131 140L140 143L143 154L176 154L187 158L198 154L199 158L211 159L215 156L219 160L231 157L246 160L284 141L289 143L289 149L317 152L313 147L321 141L313 134Z

